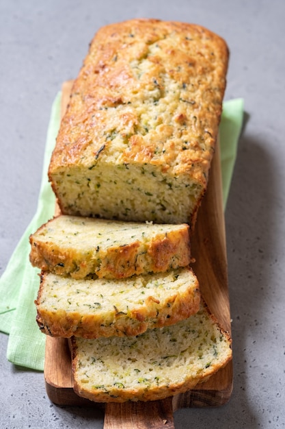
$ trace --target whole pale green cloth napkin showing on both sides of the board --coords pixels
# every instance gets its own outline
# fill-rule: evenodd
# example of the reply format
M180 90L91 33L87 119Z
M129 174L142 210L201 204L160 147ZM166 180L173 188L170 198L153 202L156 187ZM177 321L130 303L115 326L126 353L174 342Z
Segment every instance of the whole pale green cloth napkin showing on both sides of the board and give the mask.
M55 196L48 182L47 171L60 121L61 93L57 94L51 110L51 119L46 138L42 184L38 208L31 223L8 262L0 279L0 330L10 334L7 358L14 365L42 371L44 369L44 345L46 336L36 323L36 299L40 270L29 263L29 235L42 223L53 217ZM243 123L243 99L224 101L220 125L221 170L223 180L223 205L230 189L230 181L236 147Z

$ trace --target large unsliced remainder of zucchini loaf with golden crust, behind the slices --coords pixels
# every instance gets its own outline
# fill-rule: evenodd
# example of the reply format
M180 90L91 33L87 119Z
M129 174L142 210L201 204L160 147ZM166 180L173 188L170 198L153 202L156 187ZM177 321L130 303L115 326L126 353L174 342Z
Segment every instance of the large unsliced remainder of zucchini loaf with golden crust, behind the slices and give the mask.
M193 225L227 67L226 42L198 25L135 19L100 29L49 166L62 213Z

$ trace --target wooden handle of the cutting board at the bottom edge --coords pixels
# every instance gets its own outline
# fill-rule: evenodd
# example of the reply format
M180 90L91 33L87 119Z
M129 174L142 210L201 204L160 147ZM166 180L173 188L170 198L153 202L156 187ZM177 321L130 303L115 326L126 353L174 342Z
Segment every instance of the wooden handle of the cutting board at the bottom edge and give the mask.
M109 402L103 429L174 429L172 397L161 401Z

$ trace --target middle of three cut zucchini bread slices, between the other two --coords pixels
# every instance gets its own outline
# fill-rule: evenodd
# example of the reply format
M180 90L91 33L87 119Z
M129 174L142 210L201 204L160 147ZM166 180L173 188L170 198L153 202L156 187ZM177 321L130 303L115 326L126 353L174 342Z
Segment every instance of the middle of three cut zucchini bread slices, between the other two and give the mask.
M52 336L131 336L198 311L200 289L189 268L109 280L42 273L37 321Z

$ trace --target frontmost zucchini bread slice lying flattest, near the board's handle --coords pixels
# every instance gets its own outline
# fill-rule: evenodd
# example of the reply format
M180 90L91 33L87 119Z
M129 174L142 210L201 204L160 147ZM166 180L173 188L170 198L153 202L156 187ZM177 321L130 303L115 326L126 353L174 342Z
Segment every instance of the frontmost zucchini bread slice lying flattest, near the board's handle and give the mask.
M72 337L74 391L94 402L160 400L193 389L232 358L231 339L201 303L184 321L135 337Z

